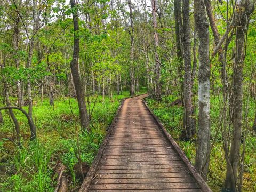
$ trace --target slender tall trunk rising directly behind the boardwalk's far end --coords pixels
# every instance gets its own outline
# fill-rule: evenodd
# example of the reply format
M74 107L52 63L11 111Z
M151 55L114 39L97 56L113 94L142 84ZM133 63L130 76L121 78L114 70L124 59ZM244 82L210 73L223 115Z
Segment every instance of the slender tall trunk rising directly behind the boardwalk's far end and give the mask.
M131 66L130 66L130 77L131 77L131 85L130 85L130 95L135 95L135 78L134 78L134 66L133 66L133 52L134 52L134 26L133 26L133 18L132 18L132 5L131 0L128 0L129 11L130 11L130 22L132 31L130 32L131 35Z

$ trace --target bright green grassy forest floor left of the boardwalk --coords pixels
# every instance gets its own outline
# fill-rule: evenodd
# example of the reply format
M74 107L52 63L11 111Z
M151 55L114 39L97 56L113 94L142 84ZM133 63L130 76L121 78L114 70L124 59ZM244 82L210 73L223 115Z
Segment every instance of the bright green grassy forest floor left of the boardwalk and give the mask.
M8 140L13 138L14 126L7 111L4 111L5 123L0 125L0 191L54 191L58 164L66 167L69 189L81 185L81 174L76 169L79 154L81 162L88 165L92 163L125 97L129 97L129 92L114 95L111 100L106 96L104 105L102 97L97 98L90 134L81 134L79 130L79 111L74 98L58 98L54 106L49 106L47 98L42 103L41 99L35 98L33 113L37 127L36 142L29 142L26 118L19 111L14 111L20 124L23 148L16 147ZM92 109L96 97L90 99ZM27 107L24 108L27 110Z

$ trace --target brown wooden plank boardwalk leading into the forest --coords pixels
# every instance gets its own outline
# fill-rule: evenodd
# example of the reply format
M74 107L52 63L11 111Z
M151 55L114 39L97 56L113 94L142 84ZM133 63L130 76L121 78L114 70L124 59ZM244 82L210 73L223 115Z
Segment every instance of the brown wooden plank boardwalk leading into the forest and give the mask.
M80 191L211 191L143 97L122 103Z

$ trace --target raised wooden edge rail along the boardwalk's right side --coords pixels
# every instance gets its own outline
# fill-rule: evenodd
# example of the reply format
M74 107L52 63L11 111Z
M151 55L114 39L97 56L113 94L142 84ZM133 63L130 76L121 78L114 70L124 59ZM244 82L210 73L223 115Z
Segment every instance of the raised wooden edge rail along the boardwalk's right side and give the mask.
M193 177L195 178L196 182L201 187L202 191L204 191L204 192L212 192L210 187L207 185L207 183L204 181L204 179L201 177L201 175L198 173L198 171L195 169L195 167L190 163L190 161L187 158L187 156L185 155L185 153L180 149L180 147L177 144L177 142L175 142L174 139L172 138L172 136L167 132L167 130L164 127L164 125L162 124L162 122L158 119L158 117L149 108L145 98L143 98L142 100L143 100L143 103L145 104L145 106L147 107L147 109L149 110L150 114L154 117L154 119L156 120L158 125L161 127L161 129L164 132L164 134L166 135L166 137L170 140L171 144L173 145L173 147L177 151L177 153L180 156L180 158L185 162L186 166L188 167L188 170L193 175Z

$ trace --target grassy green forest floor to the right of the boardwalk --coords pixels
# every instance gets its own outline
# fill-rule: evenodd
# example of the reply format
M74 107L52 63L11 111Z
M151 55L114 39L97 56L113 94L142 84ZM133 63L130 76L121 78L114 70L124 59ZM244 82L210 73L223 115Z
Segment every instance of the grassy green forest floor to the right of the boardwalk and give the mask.
M153 99L147 98L146 101L149 107L154 111L154 114L162 121L166 129L172 135L174 140L178 143L180 148L185 152L190 162L195 163L196 138L190 141L180 140L181 130L183 127L183 106L174 105L171 103L177 101L177 97L169 96L163 97L161 102L157 102ZM254 106L254 101L250 101L250 106ZM198 109L198 107L195 107ZM214 137L217 132L219 123L220 105L218 97L211 97L210 103L211 110L211 138ZM197 117L198 111L196 111ZM254 121L255 108L249 109L249 122ZM252 124L250 124L251 127ZM250 129L249 127L249 129ZM253 131L249 132L249 136L246 140L246 155L245 155L245 168L244 168L244 181L243 191L252 192L256 191L256 134ZM209 180L207 184L213 190L213 192L221 191L223 181L226 175L226 162L222 147L221 131L219 131L217 142L215 142L212 149L209 167Z

